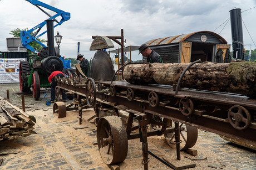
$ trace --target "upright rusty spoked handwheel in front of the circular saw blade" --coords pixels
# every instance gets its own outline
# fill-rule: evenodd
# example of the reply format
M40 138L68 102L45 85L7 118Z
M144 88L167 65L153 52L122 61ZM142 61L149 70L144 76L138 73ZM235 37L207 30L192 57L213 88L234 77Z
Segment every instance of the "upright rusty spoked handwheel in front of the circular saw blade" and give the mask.
M96 102L96 86L92 78L86 81L86 101L89 107L93 107Z

